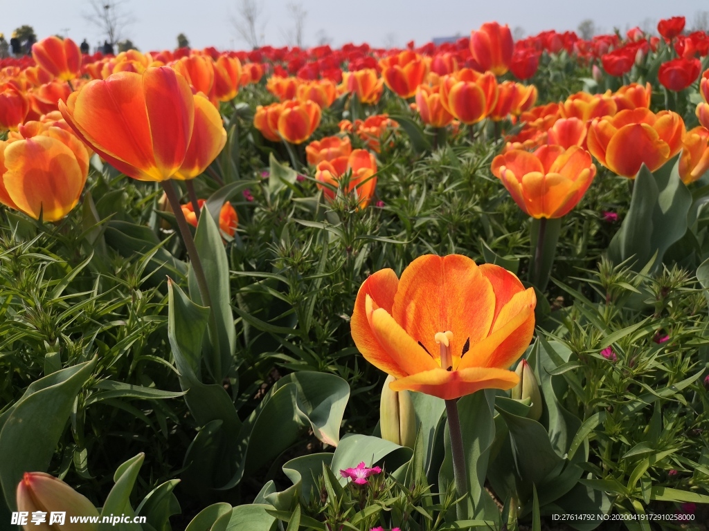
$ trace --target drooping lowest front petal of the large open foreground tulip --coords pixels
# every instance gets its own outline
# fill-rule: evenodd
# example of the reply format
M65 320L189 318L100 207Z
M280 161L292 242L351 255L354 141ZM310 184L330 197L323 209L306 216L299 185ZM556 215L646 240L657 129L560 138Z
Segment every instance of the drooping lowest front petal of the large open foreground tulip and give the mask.
M519 377L510 370L470 367L447 371L439 368L396 379L389 384L389 388L392 391L416 391L453 400L480 389L512 389L518 382Z

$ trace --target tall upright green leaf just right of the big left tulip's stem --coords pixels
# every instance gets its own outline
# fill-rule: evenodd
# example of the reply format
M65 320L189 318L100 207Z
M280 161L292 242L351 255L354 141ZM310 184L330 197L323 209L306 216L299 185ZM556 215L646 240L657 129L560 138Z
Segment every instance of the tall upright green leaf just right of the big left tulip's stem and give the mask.
M210 331L209 341L205 342L202 357L212 379L221 382L229 374L233 365L236 329L231 312L229 261L218 225L211 216L199 217L194 245L206 277L212 302L210 319L213 319L215 325L213 328L216 329ZM188 283L191 299L196 304L203 304L197 277L192 267L189 268ZM213 337L213 333L216 333L216 337Z

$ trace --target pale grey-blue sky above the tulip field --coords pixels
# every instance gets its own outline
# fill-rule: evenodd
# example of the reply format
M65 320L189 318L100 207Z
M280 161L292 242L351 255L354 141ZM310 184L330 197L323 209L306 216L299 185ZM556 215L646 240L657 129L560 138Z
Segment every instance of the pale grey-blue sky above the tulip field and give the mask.
M91 0L0 0L0 32L6 38L20 25L33 26L38 38L64 35L91 45L104 35L84 20ZM162 50L177 45L184 33L192 47L215 46L219 50L247 49L238 36L233 18L242 0L121 0L123 13L133 17L123 35L140 50ZM264 42L274 46L293 44L294 20L289 4L299 4L303 19L303 44L327 40L333 46L345 42L369 42L373 46L403 47L414 40L424 44L434 37L467 35L481 23L498 21L521 28L524 35L542 30L575 30L591 18L598 30L610 32L640 25L657 25L660 18L683 15L688 27L696 13L709 11L706 0L256 0L261 9L259 26Z

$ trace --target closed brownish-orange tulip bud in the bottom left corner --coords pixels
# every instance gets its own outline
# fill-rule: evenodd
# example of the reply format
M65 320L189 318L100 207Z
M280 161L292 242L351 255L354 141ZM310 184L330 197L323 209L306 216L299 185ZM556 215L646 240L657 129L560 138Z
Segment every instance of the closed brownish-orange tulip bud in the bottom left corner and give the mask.
M17 510L29 513L45 513L47 522L40 525L26 525L25 529L37 531L92 531L98 523L72 523L72 517L94 517L99 520L99 511L86 496L74 491L61 479L44 472L26 472L17 486ZM51 513L66 513L62 525L52 523Z

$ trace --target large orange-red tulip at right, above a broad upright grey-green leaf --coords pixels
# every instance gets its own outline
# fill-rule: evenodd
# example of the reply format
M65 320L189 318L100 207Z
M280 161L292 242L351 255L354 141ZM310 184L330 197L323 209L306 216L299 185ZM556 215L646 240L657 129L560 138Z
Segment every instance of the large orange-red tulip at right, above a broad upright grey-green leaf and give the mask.
M596 118L588 128L588 151L610 171L635 178L640 166L657 170L682 149L685 128L680 115L647 108L621 110Z

